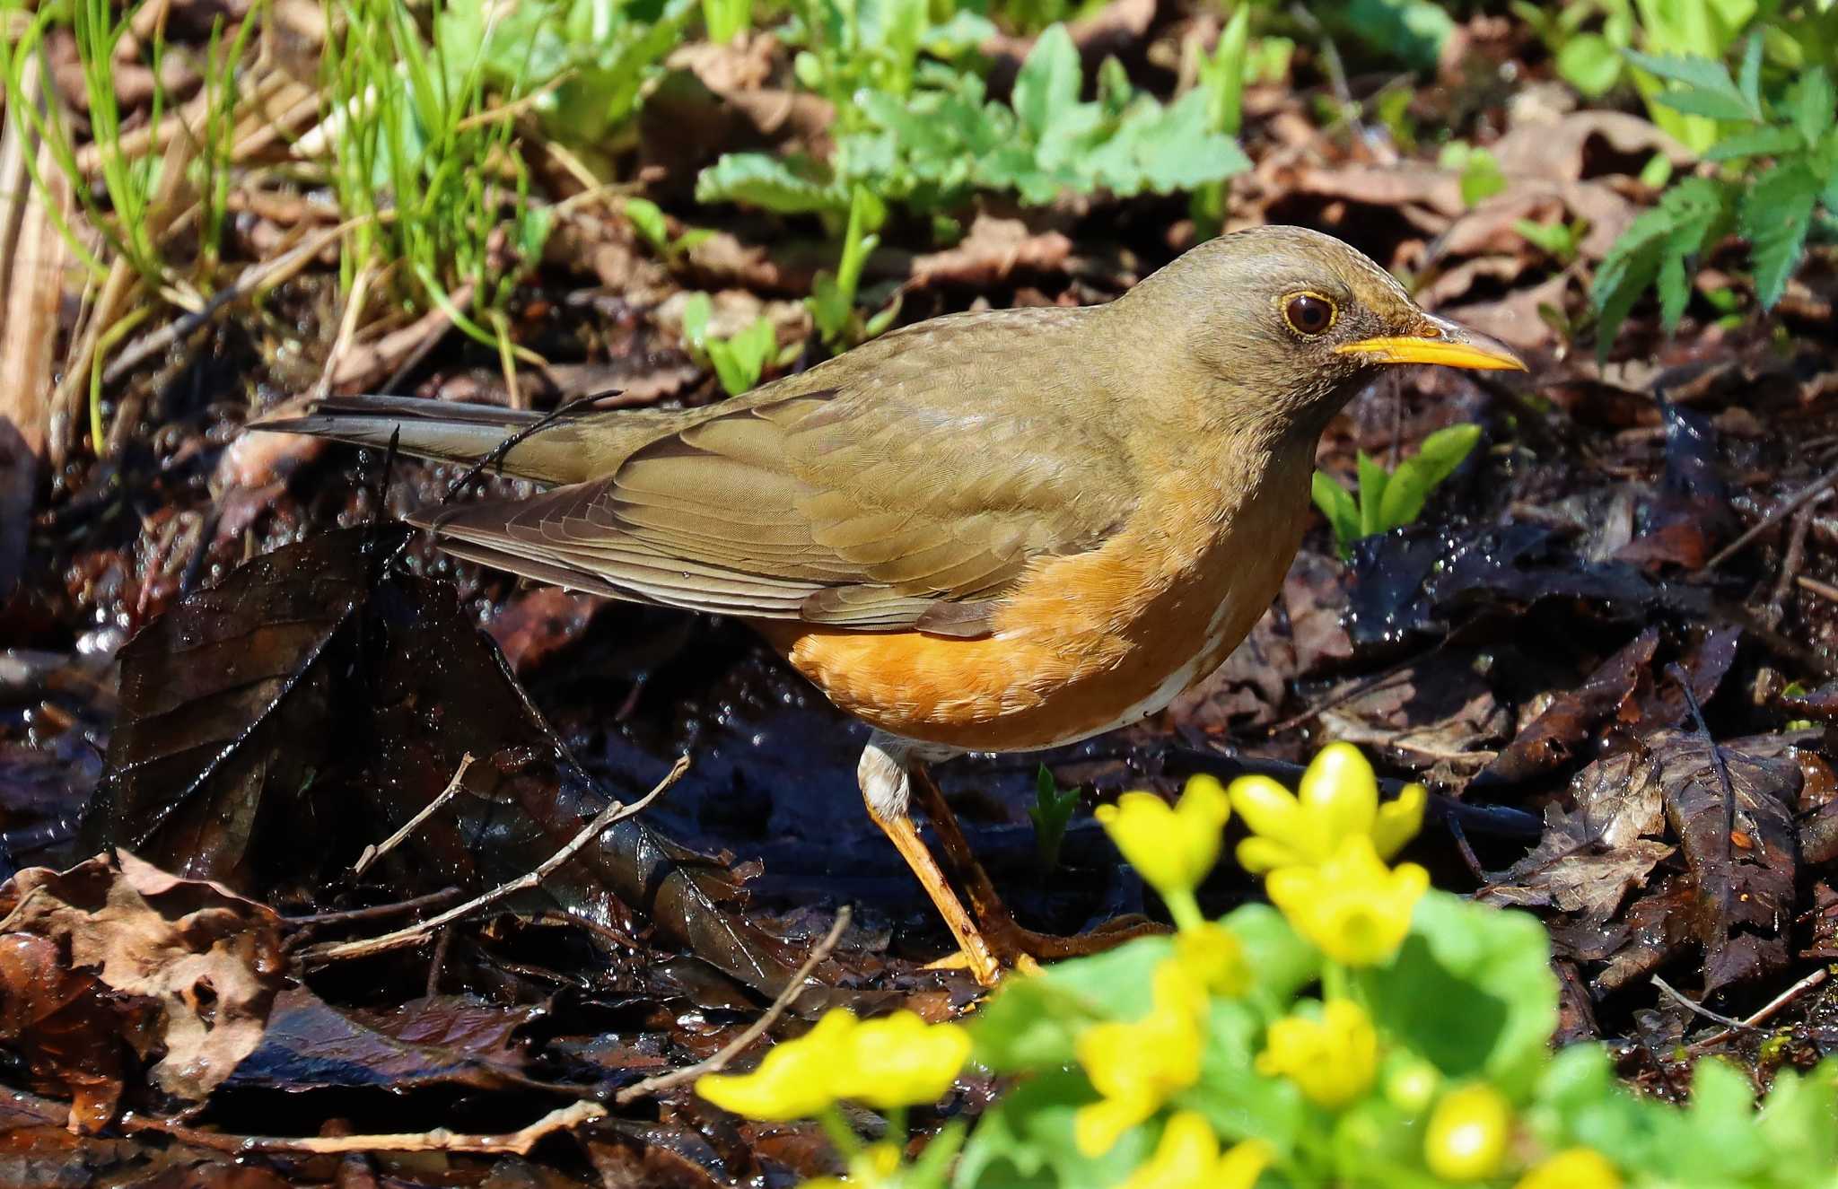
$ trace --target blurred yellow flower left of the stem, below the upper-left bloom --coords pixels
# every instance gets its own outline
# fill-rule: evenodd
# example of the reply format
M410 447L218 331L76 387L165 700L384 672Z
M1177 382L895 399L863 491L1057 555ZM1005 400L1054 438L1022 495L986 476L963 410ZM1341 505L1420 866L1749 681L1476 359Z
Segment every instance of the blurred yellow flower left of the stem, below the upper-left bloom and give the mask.
M1129 1024L1094 1024L1073 1051L1092 1088L1103 1095L1073 1115L1073 1143L1083 1156L1103 1156L1118 1136L1154 1112L1169 1095L1200 1081L1206 1044L1206 989L1180 963L1154 974L1154 1007Z

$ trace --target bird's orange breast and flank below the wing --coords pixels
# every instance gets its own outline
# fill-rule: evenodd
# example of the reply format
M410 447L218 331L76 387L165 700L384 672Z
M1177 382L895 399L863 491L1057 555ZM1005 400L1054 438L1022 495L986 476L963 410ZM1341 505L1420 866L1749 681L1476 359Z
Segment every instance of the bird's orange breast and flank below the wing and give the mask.
M1237 498L1165 491L1103 548L1037 561L980 640L755 627L884 731L972 752L1049 748L1149 717L1224 662L1283 583L1301 491L1287 474Z

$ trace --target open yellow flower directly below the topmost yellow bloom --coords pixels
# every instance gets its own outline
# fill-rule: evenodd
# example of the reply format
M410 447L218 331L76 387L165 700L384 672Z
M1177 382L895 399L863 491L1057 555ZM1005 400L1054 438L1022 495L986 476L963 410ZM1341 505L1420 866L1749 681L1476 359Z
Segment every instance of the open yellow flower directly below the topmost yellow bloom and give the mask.
M1277 867L1265 880L1270 902L1296 932L1349 967L1391 961L1428 888L1428 871L1386 867L1366 834L1345 838L1318 867Z

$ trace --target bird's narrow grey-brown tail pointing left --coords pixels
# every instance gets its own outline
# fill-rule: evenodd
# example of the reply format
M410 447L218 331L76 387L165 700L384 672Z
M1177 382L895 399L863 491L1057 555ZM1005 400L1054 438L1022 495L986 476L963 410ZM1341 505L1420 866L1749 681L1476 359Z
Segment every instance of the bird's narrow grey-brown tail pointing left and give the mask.
M605 430L592 439L584 436L581 417L597 413L557 417L511 447L504 456L505 474L539 483L579 483L592 478L596 463L603 461L603 447L612 443L607 441ZM390 439L397 437L403 454L474 463L540 419L542 413L496 404L421 397L329 397L312 401L305 408L279 410L252 421L248 428L311 434L377 448L388 448Z

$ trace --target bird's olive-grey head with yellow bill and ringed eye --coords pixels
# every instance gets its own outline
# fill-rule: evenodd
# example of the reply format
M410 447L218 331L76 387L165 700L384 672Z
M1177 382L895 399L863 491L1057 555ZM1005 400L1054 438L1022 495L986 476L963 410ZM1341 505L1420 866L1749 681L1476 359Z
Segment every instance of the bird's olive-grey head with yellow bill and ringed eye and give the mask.
M1503 344L1424 312L1366 254L1307 228L1208 241L1116 305L1209 380L1222 413L1310 437L1391 364L1526 369Z

